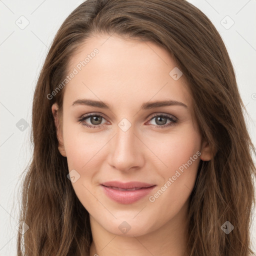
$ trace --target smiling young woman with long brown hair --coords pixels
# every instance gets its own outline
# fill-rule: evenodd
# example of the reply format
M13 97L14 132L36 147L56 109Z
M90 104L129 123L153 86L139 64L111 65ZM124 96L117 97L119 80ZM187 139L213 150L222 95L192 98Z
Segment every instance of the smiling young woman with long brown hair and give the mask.
M85 1L36 84L18 255L251 255L242 107L192 4Z

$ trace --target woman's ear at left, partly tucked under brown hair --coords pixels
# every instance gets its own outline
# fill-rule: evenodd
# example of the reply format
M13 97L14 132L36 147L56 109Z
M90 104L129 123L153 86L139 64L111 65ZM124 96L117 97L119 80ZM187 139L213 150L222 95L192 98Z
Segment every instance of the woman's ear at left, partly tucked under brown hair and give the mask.
M57 133L57 139L58 139L58 150L62 156L66 157L66 152L64 148L64 143L63 143L63 132L62 132L62 122L59 116L59 111L58 111L58 105L57 103L54 103L51 106L51 111L54 117L54 123L56 127L56 133Z

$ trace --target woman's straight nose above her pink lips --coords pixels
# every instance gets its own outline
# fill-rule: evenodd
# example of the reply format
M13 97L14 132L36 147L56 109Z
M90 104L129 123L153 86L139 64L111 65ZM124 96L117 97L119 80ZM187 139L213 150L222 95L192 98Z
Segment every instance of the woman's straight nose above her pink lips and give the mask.
M143 143L131 125L126 131L117 127L111 139L108 163L122 171L141 168L144 164Z

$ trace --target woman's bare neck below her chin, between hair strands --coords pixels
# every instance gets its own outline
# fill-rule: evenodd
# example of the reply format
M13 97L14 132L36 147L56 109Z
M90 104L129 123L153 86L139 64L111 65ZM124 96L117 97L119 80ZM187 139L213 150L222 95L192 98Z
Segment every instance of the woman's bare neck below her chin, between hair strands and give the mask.
M184 256L187 243L187 202L158 229L140 236L122 236L105 230L91 215L93 241L89 256Z

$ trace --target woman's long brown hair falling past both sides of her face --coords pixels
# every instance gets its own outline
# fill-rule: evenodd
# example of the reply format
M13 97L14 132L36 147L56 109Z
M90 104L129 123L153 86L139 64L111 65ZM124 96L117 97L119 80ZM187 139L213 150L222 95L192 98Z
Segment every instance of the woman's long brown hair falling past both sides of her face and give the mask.
M54 102L62 109L65 87L51 93L65 79L78 47L95 33L155 42L171 54L186 77L201 135L215 152L210 161L200 160L190 195L187 254L250 255L255 148L219 33L185 0L87 0L57 31L34 91L34 149L24 171L20 207L20 221L29 228L18 232L18 256L89 253L89 214L67 178L67 161L58 151L51 112ZM234 226L228 234L221 228L226 221Z

